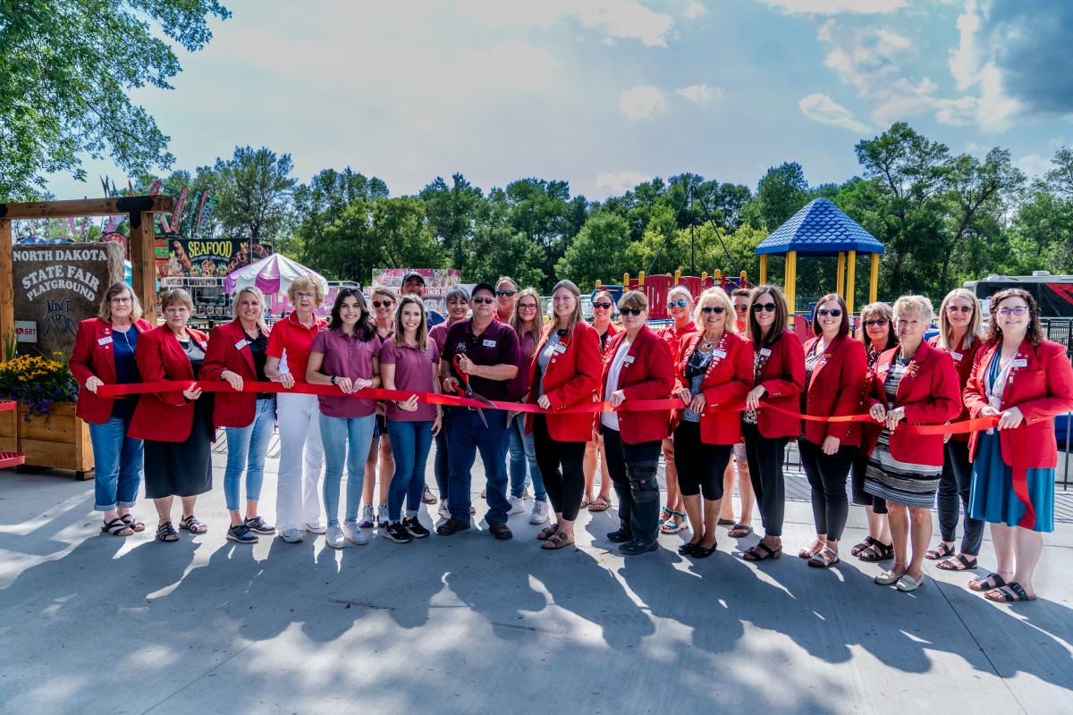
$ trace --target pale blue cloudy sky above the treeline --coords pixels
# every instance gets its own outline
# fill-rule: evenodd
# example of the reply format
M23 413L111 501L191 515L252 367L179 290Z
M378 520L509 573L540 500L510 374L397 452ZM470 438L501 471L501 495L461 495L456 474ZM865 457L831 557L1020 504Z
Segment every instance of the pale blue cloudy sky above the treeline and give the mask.
M461 172L485 190L563 179L602 199L693 172L755 187L797 161L858 172L853 146L905 120L1029 175L1073 144L1068 0L230 0L173 91L135 94L174 168L235 145L295 176L351 166L393 195ZM100 195L55 176L59 198Z

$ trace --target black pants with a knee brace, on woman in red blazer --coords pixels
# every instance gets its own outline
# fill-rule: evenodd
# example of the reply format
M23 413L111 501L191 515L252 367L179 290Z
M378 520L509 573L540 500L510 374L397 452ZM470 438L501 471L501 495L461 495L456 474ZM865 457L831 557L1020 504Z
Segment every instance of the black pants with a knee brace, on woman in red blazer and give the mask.
M656 471L660 463L663 441L628 445L618 430L604 426L604 453L607 473L618 495L618 519L621 528L629 530L642 543L656 540L660 516L660 486Z

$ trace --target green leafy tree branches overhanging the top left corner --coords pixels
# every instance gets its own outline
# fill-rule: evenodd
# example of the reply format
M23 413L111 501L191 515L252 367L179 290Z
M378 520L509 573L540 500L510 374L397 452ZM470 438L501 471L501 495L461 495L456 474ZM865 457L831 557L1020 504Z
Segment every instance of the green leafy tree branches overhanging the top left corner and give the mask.
M218 0L0 0L0 200L39 196L45 176L85 179L82 154L132 174L168 166L167 137L129 92L171 89L173 43L212 38Z

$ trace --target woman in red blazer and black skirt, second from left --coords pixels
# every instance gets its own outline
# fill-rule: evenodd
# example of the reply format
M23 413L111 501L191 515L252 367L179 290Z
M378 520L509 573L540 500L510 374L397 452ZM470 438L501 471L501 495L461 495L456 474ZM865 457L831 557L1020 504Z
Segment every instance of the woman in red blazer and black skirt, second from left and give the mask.
M137 369L142 379L197 379L208 337L187 327L194 304L182 288L160 298L166 323L142 336ZM134 408L133 436L145 440L145 495L153 500L160 523L157 539L178 541L172 525L172 503L182 501L179 528L204 534L208 526L194 516L197 495L212 489L212 396L197 385L181 392L146 392Z

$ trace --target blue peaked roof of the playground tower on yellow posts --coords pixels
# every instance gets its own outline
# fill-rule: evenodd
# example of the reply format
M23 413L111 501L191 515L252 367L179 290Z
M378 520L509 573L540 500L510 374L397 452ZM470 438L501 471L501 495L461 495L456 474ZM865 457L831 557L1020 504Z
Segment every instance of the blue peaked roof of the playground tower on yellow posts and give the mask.
M883 253L883 244L826 198L817 198L793 214L756 247L756 253L833 256L841 251Z

